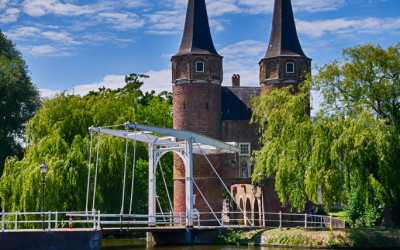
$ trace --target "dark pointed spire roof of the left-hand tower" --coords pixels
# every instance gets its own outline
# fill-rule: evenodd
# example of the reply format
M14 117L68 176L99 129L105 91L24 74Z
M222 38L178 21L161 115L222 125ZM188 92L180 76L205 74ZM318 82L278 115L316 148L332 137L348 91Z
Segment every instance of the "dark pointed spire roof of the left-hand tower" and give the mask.
M212 41L205 0L189 0L185 30L177 55L184 54L219 56Z

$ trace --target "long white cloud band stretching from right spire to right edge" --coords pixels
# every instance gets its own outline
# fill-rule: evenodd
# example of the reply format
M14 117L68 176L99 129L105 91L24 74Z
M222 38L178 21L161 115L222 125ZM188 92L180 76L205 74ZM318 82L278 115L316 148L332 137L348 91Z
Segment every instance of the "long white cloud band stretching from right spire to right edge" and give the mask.
M400 18L337 18L329 20L302 21L297 20L297 30L313 38L327 34L352 36L355 34L381 34L400 31Z

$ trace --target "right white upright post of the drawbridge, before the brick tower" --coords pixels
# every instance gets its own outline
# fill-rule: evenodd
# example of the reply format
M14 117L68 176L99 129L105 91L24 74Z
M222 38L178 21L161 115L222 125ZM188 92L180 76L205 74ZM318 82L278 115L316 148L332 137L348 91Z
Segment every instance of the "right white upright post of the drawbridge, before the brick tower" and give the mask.
M193 227L193 141L186 140L185 150L186 226Z

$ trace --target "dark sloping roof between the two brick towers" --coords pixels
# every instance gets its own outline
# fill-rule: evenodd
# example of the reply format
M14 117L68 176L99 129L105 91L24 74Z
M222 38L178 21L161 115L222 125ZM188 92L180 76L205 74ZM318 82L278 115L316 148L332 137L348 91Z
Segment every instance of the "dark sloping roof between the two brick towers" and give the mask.
M221 90L221 120L250 121L251 96L259 95L260 87L222 87Z

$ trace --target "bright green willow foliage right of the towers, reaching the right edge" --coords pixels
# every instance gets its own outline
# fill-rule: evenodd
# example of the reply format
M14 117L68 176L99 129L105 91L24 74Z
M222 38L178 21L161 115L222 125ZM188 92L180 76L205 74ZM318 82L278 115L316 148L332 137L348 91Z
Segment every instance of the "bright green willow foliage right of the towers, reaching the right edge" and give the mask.
M370 213L382 215L379 207L387 225L392 216L400 222L399 50L345 49L344 62L321 67L297 94L282 88L254 99L262 134L255 173L275 176L283 203L302 210L320 190L328 204L349 201L353 222L376 224L382 217ZM323 94L315 118L307 114L310 89Z

